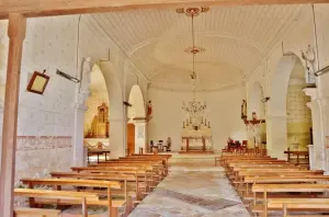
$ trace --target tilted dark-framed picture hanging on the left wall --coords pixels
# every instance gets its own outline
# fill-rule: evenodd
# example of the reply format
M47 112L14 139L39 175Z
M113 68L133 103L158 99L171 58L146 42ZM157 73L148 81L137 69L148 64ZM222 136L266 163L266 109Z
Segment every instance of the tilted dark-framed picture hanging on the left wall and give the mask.
M29 92L44 94L48 81L49 81L48 76L41 73L38 71L34 71L26 90Z

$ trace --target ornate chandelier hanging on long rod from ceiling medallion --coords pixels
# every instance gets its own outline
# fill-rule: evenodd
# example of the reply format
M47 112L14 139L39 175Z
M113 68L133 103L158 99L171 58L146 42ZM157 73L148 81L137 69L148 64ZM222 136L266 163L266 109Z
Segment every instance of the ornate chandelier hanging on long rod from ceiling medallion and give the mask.
M205 52L205 48L195 46L195 31L194 31L194 18L200 13L207 12L208 8L188 8L188 9L178 9L178 13L184 13L188 16L191 16L192 20L192 47L186 48L184 52L188 54L192 54L192 73L190 75L192 80L192 93L193 100L188 102L183 102L182 110L186 114L186 125L191 124L195 130L201 128L201 125L204 124L206 126L206 121L204 119L206 102L201 103L196 100L196 80L197 73L195 71L195 62L196 62L196 54ZM184 126L183 126L184 127ZM209 126L208 126L209 127Z

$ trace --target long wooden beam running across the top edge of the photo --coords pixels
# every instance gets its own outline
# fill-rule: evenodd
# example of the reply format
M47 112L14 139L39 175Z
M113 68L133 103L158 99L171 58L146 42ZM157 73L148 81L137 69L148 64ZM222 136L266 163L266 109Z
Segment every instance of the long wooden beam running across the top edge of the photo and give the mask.
M133 9L174 8L182 5L248 5L328 3L329 0L0 0L0 19L22 13L27 18L100 13Z

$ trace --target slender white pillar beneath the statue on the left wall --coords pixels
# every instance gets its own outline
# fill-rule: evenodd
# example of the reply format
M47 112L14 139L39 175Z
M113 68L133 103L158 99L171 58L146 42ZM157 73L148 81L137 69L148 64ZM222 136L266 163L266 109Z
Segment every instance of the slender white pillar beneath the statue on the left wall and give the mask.
M75 135L73 135L73 159L75 167L83 167L87 164L87 156L83 151L83 126L84 112L88 107L84 104L75 104Z

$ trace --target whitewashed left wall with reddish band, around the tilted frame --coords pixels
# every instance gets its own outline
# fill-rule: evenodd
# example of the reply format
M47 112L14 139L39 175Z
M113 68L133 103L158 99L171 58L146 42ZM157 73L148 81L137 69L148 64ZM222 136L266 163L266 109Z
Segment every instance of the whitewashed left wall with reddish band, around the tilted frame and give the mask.
M3 85L8 38L4 36L7 22L2 22L1 53L4 55L1 56L0 82ZM56 69L76 76L76 33L77 16L27 20L20 82L16 181L22 176L42 176L44 170L69 170L76 84L58 77ZM50 76L44 94L26 92L31 75L44 69Z

